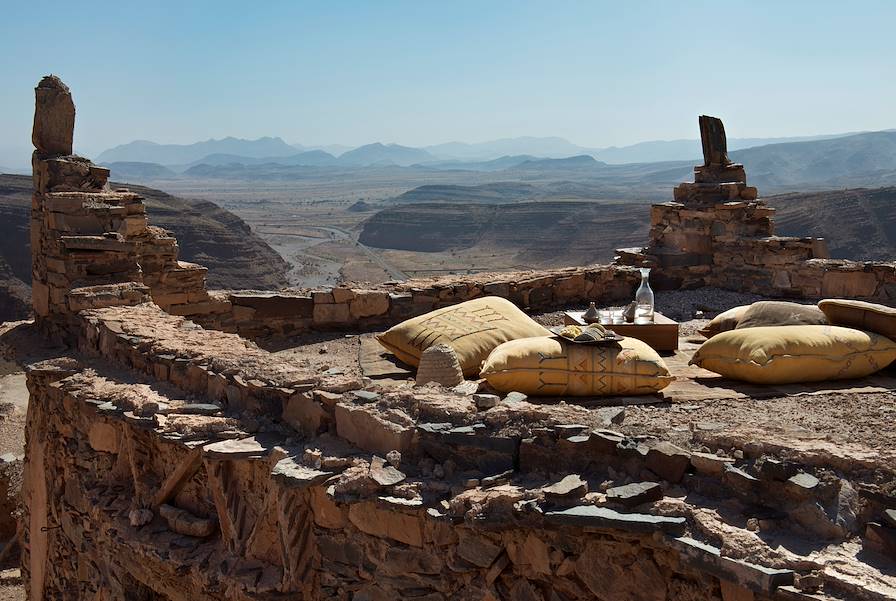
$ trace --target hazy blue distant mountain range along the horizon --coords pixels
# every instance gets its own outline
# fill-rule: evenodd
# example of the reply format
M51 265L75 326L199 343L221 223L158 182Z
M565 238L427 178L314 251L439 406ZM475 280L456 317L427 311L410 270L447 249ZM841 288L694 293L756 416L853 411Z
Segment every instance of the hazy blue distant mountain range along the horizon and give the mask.
M521 139L530 140L530 139ZM542 150L556 150L560 147L559 138L536 138L531 140L548 140L549 145ZM762 141L754 139L752 141ZM189 146L189 152L196 154L197 148L205 151L211 146L237 144L238 140L219 140L203 142ZM338 169L351 171L355 169L414 169L418 172L437 171L443 174L441 181L449 178L449 183L466 184L470 176L465 172L479 172L481 183L485 181L528 181L539 180L566 181L599 181L606 186L603 190L619 189L623 193L617 198L631 197L639 189L646 187L657 189L674 185L679 181L690 179L691 167L700 162L699 143L693 140L679 142L650 142L640 146L640 153L662 154L686 153L688 145L696 146L698 156L678 161L648 161L634 163L613 163L602 160L610 152L607 149L595 154L576 154L560 158L539 156L536 154L503 155L496 158L473 161L459 159L440 159L434 150L413 148L398 144L367 144L334 156L323 150L305 150L296 152L296 148L285 144L278 138L263 138L251 141L251 150L259 156L247 156L216 152L204 155L192 162L182 165L165 165L159 162L138 161L106 161L104 164L113 169L113 177L130 181L152 181L173 177L201 177L226 179L263 179L272 177L287 181L297 177L306 177L319 169ZM508 144L501 141L497 148ZM547 144L547 143L546 143ZM282 156L269 154L271 145L283 152ZM665 145L666 150L660 146ZM473 146L473 145L467 145ZM128 153L138 146L130 146ZM163 152L170 145L152 145L155 153ZM177 147L176 156L187 157L187 147ZM457 150L458 143L442 145L442 152ZM620 153L629 152L634 147L613 149L616 157ZM670 149L677 148L674 153ZM267 152L267 153L265 153ZM125 154L128 154L125 153ZM111 150L102 156L115 154ZM761 146L752 146L730 150L732 160L742 162L747 170L750 183L760 186L766 193L795 190L821 190L838 187L880 187L896 185L896 131L868 132L836 137L817 137L809 140L777 142ZM597 156L598 158L595 158ZM634 156L634 155L632 155ZM485 178L485 179L483 179ZM465 181L466 180L466 181ZM628 186L630 190L625 192ZM512 202L505 199L505 202Z

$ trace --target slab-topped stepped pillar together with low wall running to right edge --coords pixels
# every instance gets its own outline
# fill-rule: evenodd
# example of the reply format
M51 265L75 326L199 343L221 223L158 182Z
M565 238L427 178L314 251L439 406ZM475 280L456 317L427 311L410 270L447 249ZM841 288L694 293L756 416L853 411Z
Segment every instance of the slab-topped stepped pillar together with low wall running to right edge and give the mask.
M721 121L718 127L724 145ZM722 156L723 163L709 162ZM653 205L648 246L619 249L617 264L655 267L658 285L668 289L896 300L896 263L830 259L821 238L775 236L775 209L747 185L743 165L727 153L712 157L694 168L693 183L675 188L674 202Z

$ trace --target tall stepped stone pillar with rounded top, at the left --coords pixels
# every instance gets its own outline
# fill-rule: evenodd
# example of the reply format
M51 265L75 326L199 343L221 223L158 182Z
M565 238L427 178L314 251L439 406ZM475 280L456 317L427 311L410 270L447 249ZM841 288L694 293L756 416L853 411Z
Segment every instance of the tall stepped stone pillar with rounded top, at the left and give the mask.
M111 190L109 170L72 154L75 106L55 76L35 88L32 303L39 321L150 298L207 304L206 269L178 261L177 241L147 223L143 198Z

